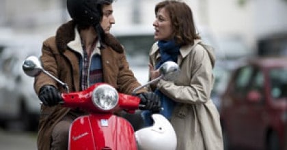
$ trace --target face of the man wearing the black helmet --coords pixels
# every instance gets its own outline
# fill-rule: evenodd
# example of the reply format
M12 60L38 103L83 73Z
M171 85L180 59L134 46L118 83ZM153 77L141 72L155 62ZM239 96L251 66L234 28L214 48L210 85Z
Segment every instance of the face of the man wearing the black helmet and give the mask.
M113 18L113 6L103 5L102 7L102 21L100 26L104 29L105 33L109 33L111 25L115 24L115 18Z

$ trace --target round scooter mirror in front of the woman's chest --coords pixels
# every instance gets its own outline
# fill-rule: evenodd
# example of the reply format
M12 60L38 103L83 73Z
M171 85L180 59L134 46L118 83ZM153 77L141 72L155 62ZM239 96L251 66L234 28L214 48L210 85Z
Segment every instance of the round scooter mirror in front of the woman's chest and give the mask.
M161 72L163 80L172 81L176 80L180 74L180 68L178 67L178 64L174 63L174 61L167 61L161 65L159 72Z

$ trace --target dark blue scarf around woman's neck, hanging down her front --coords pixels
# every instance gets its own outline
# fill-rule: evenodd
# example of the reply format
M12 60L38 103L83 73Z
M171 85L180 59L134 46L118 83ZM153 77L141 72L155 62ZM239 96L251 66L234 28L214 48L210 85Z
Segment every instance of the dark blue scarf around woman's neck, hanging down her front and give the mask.
M161 61L156 64L156 69L159 69L159 67L165 63L166 61L174 61L177 63L178 61L178 55L180 54L180 46L176 44L174 40L170 41L159 41L159 52L161 54ZM163 107L163 110L161 110L159 113L163 115L165 118L170 119L172 117L172 111L174 110L174 106L176 105L176 102L171 100L169 97L165 96L159 89L156 89L154 91L159 97L161 97L161 105ZM145 121L145 125L149 126L152 125L152 120L150 119L151 113L149 111L143 111L142 117Z

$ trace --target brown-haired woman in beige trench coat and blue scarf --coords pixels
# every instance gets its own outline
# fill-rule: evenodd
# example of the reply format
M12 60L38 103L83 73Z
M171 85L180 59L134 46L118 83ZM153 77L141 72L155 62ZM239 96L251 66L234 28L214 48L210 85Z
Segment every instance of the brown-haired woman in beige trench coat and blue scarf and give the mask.
M180 75L173 82L159 80L150 89L161 97L161 113L176 131L177 149L223 149L219 112L210 100L213 48L200 40L186 3L162 1L156 5L155 14L157 42L150 50L150 80L159 76L157 69L165 61L178 63Z

